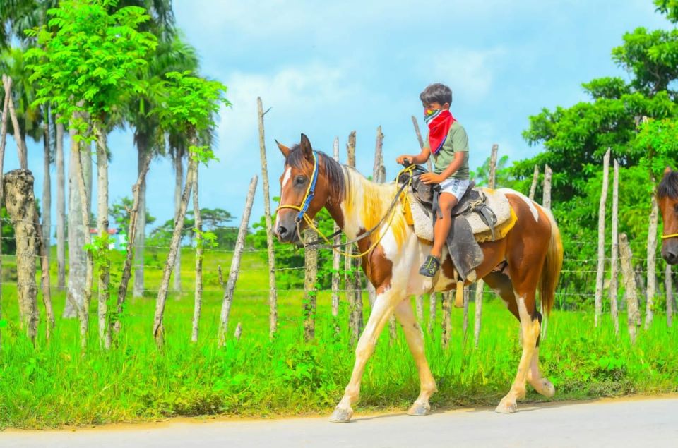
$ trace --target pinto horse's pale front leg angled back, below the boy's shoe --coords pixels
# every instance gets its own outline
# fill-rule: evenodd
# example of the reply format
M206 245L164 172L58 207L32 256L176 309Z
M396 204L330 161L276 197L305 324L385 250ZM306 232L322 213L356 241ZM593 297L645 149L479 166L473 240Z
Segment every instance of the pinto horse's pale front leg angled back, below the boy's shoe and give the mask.
M426 353L424 353L424 337L422 335L422 327L415 319L415 314L412 313L412 304L409 299L400 302L396 307L396 317L403 326L405 338L408 340L410 352L415 358L417 370L419 370L420 393L419 397L412 404L408 414L410 416L425 416L431 410L429 398L436 392L436 381L429 369L429 363L426 361Z

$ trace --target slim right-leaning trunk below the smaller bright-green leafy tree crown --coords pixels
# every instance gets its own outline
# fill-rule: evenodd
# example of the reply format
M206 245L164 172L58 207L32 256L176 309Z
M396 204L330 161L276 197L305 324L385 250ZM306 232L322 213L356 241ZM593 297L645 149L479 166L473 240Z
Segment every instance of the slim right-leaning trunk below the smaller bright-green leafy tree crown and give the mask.
M165 330L162 327L162 317L165 314L165 301L167 301L167 288L169 287L169 277L172 277L172 267L178 265L177 254L179 253L180 240L182 238L182 229L184 228L184 217L186 216L186 207L189 204L189 196L193 187L193 180L196 175L197 162L194 157L189 155L189 166L186 169L186 186L182 199L179 201L179 211L174 218L174 232L172 233L172 243L169 244L169 253L165 262L165 270L162 272L162 281L160 289L157 291L155 302L155 316L153 317L153 337L158 347L165 344Z

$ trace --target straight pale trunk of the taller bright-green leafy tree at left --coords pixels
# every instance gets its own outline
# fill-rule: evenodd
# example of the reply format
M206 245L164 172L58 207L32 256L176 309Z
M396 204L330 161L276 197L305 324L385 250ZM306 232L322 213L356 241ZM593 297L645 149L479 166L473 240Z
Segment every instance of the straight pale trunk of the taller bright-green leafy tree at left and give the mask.
M99 343L105 348L111 348L111 319L108 313L108 301L111 296L109 286L111 282L111 262L108 257L108 152L106 146L107 135L100 121L94 122L94 133L97 138L97 229L100 241L101 260L99 265Z

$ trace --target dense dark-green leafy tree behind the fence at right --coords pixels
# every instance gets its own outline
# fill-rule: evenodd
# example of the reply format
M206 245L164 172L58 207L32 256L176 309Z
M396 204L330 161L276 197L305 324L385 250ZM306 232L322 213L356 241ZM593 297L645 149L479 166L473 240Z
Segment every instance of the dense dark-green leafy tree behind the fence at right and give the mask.
M675 1L658 0L655 5L675 21L671 16L677 11ZM531 116L523 137L531 145L542 145L545 151L512 167L523 191L535 164L549 164L553 169L552 207L564 234L566 253L561 287L574 294L571 297L576 303L588 300L592 278L587 272L595 272L600 165L607 149L621 166L619 231L629 234L634 253L646 249L654 188L650 173L656 174L663 170L662 165L678 160L672 143L678 115L674 90L678 80L677 30L637 28L624 35L622 45L612 49L612 59L629 73L630 80L592 80L583 84L590 101L552 111L542 109ZM643 116L650 118L649 123L641 123Z

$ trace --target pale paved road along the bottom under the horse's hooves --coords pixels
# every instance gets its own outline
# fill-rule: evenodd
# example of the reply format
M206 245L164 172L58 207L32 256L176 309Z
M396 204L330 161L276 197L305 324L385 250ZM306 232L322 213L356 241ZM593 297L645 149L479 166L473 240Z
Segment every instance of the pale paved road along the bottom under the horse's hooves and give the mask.
M466 409L327 418L0 432L0 447L678 447L678 398L525 405L513 415Z

